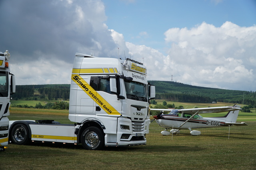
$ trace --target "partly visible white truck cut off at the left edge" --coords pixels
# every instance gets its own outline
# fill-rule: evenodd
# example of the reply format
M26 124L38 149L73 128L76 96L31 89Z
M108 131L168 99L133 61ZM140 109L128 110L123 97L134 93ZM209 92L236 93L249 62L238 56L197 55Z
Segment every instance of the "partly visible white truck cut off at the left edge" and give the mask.
M10 94L15 93L15 77L10 73L10 53L0 52L0 151L8 145Z

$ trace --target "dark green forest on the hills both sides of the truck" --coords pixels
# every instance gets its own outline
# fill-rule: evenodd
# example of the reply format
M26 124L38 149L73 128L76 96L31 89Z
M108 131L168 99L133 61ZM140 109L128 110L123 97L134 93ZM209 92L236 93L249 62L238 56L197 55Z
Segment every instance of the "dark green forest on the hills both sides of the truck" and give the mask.
M156 99L176 102L228 102L256 106L256 92L191 86L170 81L149 81ZM18 85L14 100L69 100L70 84Z

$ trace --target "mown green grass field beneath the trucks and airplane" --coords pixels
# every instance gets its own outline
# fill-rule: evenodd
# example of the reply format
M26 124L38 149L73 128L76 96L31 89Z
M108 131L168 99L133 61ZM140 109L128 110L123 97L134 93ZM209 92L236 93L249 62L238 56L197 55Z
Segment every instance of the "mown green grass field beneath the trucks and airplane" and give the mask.
M0 152L0 169L256 169L256 114L240 113L248 126L199 129L192 136L189 130L163 136L155 121L146 135L147 145L105 147L84 150L82 145L34 143L8 145ZM68 111L12 108L10 120L54 119L70 123ZM239 121L239 120L238 120Z

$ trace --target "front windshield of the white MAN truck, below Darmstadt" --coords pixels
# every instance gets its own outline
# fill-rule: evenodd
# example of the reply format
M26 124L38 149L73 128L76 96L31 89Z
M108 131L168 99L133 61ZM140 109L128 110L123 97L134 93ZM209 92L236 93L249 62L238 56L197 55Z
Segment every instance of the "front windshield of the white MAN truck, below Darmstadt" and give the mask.
M133 81L124 81L126 97L132 100L147 102L146 84Z

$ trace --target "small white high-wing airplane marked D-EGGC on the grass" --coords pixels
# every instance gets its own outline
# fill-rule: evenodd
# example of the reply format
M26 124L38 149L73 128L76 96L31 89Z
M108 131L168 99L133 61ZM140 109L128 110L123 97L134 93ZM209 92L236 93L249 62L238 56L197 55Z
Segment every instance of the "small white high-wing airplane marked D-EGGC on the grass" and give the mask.
M223 127L223 126L244 126L246 123L236 123L240 106L224 106L224 107L205 107L194 109L150 109L161 111L158 115L153 116L156 123L166 128L162 131L162 135L170 135L180 133L180 129L189 129L191 135L200 135L200 131L192 130L207 127ZM169 114L163 114L164 111L170 111ZM199 113L220 113L226 112L223 117L202 117ZM151 122L152 122L151 121ZM151 123L150 122L150 123ZM168 129L171 129L168 131Z

